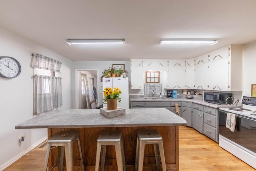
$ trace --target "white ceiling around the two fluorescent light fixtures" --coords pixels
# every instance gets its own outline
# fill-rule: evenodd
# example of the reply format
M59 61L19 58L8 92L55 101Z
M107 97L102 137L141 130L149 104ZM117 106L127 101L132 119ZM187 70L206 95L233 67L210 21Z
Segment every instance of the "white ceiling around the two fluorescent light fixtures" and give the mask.
M0 0L0 27L74 61L186 59L256 40L255 7L256 0ZM108 38L125 44L66 43ZM218 44L158 45L167 38Z

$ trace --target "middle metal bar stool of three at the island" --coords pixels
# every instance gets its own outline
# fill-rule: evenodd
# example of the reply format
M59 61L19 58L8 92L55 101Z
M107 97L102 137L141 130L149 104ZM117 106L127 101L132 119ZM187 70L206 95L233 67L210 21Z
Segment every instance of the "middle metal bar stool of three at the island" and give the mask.
M100 133L100 136L98 137L98 140L97 140L95 171L99 170L100 158L101 158L100 171L104 171L107 145L115 146L118 171L126 171L125 159L124 159L124 147L122 142L122 132L118 130L104 130Z

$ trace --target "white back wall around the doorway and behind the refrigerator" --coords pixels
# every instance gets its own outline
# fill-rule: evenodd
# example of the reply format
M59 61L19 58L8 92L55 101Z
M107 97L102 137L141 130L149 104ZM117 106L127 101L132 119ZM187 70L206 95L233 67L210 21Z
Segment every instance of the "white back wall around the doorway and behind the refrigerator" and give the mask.
M98 82L99 85L97 87L98 90L98 105L101 105L103 102L103 95L100 93L100 90L102 90L102 87L100 87L100 77L102 75L102 72L104 69L108 69L112 67L112 64L124 64L124 68L128 71L128 76L130 77L130 61L74 61L73 63L73 70L72 70L72 99L75 98L75 70L94 70L98 69L99 70L99 77L98 77ZM96 80L94 80L96 82ZM129 85L130 85L130 79L129 79ZM129 86L130 87L130 86ZM130 88L129 88L130 92ZM72 107L75 109L76 100L72 101Z

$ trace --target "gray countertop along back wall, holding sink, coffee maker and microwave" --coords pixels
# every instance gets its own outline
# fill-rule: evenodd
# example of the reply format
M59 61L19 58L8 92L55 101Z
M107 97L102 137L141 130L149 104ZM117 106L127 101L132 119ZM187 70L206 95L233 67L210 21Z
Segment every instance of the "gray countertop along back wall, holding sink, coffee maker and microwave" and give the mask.
M188 101L188 102L193 102L193 103L197 103L200 105L206 105L208 107L213 107L213 108L220 108L220 107L242 107L242 104L240 102L238 102L237 105L217 105L214 103L208 103L202 100L202 96L200 95L193 95L192 99L188 99L185 97L185 95L179 95L177 99L170 99L167 97L164 97L164 99L145 99L144 96L140 96L140 95L131 95L130 96L130 101Z

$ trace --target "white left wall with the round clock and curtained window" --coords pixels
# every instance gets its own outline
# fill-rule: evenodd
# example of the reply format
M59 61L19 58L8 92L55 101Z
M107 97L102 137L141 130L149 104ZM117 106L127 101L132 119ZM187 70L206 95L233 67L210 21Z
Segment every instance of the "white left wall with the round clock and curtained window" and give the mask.
M61 108L71 108L72 61L0 28L0 56L16 58L22 68L16 78L0 77L0 170L47 137L47 129L15 129L15 125L33 117L33 69L30 67L32 53L39 53L62 62ZM25 141L19 146L18 139L22 135L25 135Z

